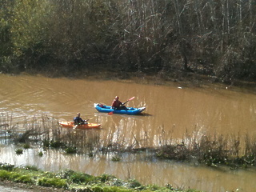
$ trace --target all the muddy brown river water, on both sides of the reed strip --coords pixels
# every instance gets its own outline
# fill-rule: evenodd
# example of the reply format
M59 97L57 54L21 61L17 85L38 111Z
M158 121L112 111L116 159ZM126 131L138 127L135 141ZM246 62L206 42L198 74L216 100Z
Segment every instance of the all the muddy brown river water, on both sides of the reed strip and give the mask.
M101 114L94 103L110 105L114 96L127 106L146 106L143 115ZM158 146L163 138L180 139L187 132L255 134L255 89L233 89L222 85L188 87L178 82L169 86L107 80L75 80L41 76L0 74L0 111L12 114L13 122L24 117L47 114L58 120L71 120L77 112L90 122L102 124L101 140L110 133L122 133L127 145ZM162 132L164 130L164 133ZM91 131L91 130L90 130ZM167 134L168 133L168 134ZM2 145L0 162L32 164L43 170L72 169L88 174L114 174L157 185L166 183L206 191L255 191L256 172L252 170L213 169L169 161L148 161L142 154L128 155L121 162L109 156L89 158L49 150L42 158L38 149L14 154L15 146Z

